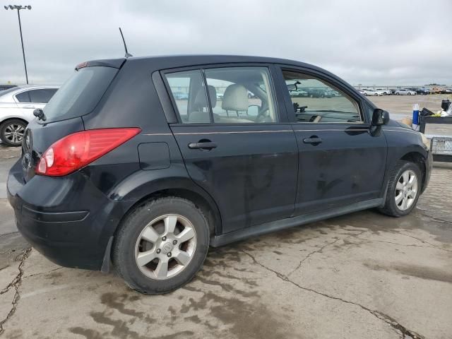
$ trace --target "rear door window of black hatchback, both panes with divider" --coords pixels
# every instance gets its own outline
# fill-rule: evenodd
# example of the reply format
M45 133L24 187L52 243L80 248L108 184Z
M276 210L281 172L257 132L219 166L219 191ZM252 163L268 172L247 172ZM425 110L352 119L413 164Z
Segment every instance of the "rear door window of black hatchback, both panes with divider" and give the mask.
M225 67L205 69L204 73L206 85L199 69L165 73L183 124L278 121L273 86L266 67Z

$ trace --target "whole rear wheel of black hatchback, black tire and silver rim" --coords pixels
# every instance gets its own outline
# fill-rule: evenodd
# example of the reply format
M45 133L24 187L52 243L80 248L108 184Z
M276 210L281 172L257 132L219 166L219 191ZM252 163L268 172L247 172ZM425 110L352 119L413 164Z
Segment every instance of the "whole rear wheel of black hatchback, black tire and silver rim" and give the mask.
M203 265L208 246L203 212L191 201L166 197L143 203L126 217L112 259L129 287L160 295L189 283Z

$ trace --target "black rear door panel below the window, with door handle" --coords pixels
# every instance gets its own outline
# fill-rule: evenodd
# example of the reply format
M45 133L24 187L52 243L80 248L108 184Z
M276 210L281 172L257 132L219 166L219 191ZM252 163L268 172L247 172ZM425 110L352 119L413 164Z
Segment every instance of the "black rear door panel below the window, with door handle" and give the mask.
M190 177L220 208L223 232L292 215L298 148L288 124L172 126Z

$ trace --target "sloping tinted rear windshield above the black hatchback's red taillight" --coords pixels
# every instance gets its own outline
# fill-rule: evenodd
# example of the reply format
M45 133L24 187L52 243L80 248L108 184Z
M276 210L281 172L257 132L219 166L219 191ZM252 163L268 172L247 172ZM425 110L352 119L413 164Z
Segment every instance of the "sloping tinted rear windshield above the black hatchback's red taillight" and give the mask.
M44 107L46 122L81 117L93 111L117 71L103 66L76 71Z

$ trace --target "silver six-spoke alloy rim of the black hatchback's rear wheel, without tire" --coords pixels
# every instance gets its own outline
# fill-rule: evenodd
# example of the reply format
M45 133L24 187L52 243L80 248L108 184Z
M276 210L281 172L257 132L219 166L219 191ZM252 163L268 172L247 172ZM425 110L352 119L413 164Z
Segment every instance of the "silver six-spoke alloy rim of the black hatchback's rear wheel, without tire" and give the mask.
M165 280L188 266L196 251L196 231L182 215L155 218L144 227L135 246L135 261L148 278Z

